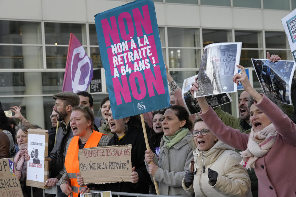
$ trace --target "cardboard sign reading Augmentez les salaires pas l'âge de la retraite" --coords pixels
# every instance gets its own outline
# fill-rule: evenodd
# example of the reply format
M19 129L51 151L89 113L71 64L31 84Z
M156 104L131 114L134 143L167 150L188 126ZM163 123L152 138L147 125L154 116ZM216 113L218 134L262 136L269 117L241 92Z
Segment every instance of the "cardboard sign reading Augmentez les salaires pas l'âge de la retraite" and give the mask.
M80 176L84 184L130 182L131 150L131 144L79 149Z

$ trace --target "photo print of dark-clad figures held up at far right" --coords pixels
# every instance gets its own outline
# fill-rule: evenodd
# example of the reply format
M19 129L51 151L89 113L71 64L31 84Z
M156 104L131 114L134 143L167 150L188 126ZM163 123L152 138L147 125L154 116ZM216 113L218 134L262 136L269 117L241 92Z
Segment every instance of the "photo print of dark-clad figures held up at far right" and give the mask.
M269 62L268 59L253 58L251 60L263 91L274 94L282 103L292 105L290 90L295 61Z

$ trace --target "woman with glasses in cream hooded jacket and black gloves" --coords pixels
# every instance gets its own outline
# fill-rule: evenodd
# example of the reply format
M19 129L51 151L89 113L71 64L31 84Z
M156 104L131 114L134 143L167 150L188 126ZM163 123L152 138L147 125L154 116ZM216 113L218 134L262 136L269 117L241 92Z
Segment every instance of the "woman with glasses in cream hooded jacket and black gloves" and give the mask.
M251 181L241 166L241 157L234 148L219 141L201 118L194 123L192 135L197 146L183 181L188 195L252 196Z

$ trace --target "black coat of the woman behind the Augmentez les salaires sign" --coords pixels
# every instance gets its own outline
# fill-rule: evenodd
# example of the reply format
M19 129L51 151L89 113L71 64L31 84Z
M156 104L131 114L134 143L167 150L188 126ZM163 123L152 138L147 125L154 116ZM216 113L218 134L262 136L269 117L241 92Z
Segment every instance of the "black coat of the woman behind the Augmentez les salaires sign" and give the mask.
M151 143L150 139L149 146L152 151L154 151L153 143ZM105 185L94 185L91 184L88 187L95 187L97 190L105 190L105 191L119 191L119 192L131 192L131 193L142 193L149 194L149 184L151 184L150 175L146 170L146 165L144 163L145 158L145 139L143 131L129 131L125 134L125 136L118 142L117 135L110 139L108 146L113 145L124 145L124 144L132 144L132 156L131 162L132 167L135 167L135 171L138 172L139 181L138 183L130 183L130 182L120 182L120 183L106 183Z

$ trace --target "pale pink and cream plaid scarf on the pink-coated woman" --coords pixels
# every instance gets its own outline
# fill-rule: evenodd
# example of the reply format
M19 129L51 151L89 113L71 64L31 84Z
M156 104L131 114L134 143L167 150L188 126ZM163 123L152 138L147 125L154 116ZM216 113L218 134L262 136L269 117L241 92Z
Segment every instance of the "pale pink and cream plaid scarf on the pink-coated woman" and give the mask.
M273 146L278 131L275 130L273 124L269 124L259 132L254 132L253 127L251 129L247 149L240 152L241 165L246 169L254 167L256 160L268 153Z

